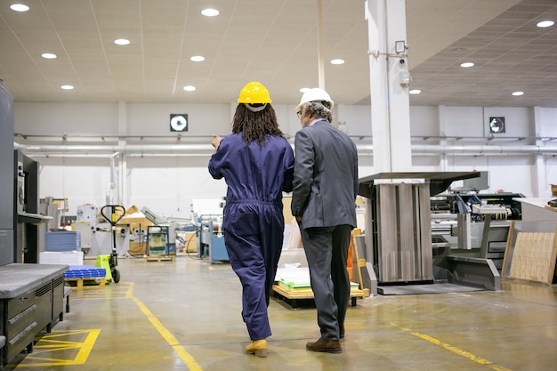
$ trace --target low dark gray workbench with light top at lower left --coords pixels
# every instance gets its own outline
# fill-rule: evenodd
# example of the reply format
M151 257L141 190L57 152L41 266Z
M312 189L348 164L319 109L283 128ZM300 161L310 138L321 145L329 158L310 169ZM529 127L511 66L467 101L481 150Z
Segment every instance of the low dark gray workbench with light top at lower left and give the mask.
M63 318L64 271L68 265L11 263L0 266L0 369L21 351L33 351L35 336Z

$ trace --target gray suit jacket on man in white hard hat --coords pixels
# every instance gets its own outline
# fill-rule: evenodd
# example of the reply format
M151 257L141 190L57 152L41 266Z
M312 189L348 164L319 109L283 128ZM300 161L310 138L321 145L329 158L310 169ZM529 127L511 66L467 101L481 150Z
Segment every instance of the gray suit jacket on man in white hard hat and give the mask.
M302 228L355 228L357 194L358 151L348 135L325 119L298 131L291 208Z

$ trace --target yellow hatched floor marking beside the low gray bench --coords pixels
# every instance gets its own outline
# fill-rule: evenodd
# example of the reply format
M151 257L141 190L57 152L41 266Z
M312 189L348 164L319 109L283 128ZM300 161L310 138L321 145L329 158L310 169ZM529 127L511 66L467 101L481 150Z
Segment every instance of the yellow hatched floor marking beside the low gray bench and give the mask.
M93 345L99 337L101 329L64 331L60 333L51 333L41 337L38 343L33 347L33 353L28 354L20 363L23 367L45 367L45 366L72 366L83 365L89 358ZM63 337L72 335L86 335L83 342L71 342L63 340ZM40 357L41 354L51 353L53 351L77 350L74 359L54 359L52 357ZM65 352L64 354L67 354ZM19 368L19 367L18 367Z

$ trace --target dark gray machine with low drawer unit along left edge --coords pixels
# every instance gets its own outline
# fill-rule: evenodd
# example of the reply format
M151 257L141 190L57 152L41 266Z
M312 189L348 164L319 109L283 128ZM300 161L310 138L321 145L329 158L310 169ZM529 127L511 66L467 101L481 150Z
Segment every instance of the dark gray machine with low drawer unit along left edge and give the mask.
M62 319L67 265L37 264L38 164L13 150L13 98L0 80L0 369ZM12 197L10 197L12 195Z

